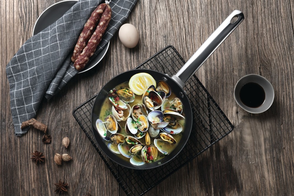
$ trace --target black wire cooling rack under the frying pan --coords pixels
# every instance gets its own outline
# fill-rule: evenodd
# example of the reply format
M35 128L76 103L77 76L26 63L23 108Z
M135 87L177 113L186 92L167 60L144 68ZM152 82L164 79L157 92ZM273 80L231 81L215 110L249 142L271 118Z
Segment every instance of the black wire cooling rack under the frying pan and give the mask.
M173 46L166 46L137 68L157 70L172 76L184 63ZM74 118L127 195L145 194L233 130L232 123L195 75L185 83L184 90L193 111L190 138L172 161L152 170L135 170L118 165L98 147L91 125L91 110L97 94L73 110ZM153 180L146 182L146 179Z

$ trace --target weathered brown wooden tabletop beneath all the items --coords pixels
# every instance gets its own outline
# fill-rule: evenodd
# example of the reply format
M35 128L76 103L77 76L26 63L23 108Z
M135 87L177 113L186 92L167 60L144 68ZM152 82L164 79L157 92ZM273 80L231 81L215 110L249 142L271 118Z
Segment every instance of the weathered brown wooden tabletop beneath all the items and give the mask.
M72 111L106 81L173 45L185 60L233 11L245 20L197 71L196 76L234 125L228 136L168 177L146 195L291 195L294 192L294 2L290 1L138 1L126 23L137 27L136 48L125 48L116 34L99 66L77 75L52 100L43 100L36 119L48 125L51 147L31 128L14 135L5 67L31 37L38 16L55 0L2 0L1 6L1 170L2 195L56 195L65 180L67 195L125 195ZM275 89L269 110L250 114L233 98L235 83L250 73L267 78ZM68 136L69 149L61 144ZM62 166L54 151L73 157ZM36 165L39 150L45 163ZM152 179L146 179L152 180Z

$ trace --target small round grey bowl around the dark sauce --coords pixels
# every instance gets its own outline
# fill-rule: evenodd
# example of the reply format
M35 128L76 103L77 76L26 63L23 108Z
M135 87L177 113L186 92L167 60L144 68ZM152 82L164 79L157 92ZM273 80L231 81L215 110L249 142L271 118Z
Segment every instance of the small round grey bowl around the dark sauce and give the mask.
M240 89L246 83L249 83L249 82L254 82L254 83L259 84L265 92L265 100L264 100L263 104L257 108L250 108L250 107L244 105L242 103L242 101L240 100ZM270 108L270 106L273 104L274 97L275 97L275 92L274 92L274 88L273 88L272 84L264 77L262 77L260 75L256 75L256 74L249 74L249 75L243 76L236 83L235 88L234 88L235 101L238 103L238 105L243 110L250 112L250 113L257 114L257 113L262 113L262 112L268 110L268 108Z

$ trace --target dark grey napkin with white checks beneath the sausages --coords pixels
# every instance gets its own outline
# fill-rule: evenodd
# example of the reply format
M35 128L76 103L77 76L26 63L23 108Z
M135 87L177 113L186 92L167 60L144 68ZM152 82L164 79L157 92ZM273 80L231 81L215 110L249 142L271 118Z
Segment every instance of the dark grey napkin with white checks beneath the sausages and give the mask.
M110 41L136 2L110 2L111 21L93 57ZM29 130L21 129L21 123L35 118L44 96L47 99L54 96L78 73L70 57L84 24L101 3L104 1L78 1L55 23L29 38L6 66L15 135L21 136Z

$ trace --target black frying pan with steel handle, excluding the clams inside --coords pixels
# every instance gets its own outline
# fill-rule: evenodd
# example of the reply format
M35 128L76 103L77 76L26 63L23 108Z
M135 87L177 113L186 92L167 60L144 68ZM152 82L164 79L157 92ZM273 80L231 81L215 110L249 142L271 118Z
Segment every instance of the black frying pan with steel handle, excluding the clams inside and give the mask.
M216 50L216 48L227 38L231 32L244 20L244 15L241 11L235 10L230 16L213 32L213 34L202 44L202 46L193 54L193 56L185 63L185 65L176 73L176 75L170 77L164 73L148 69L135 69L126 71L112 78L109 82L103 86L98 93L92 109L92 130L94 137L101 148L101 150L114 162L123 165L125 167L133 169L150 169L164 165L168 161L172 160L185 146L192 129L192 109L189 103L186 93L183 91L186 81L193 76L193 74L201 67L206 59ZM141 166L132 165L128 160L123 160L108 149L104 143L103 138L96 131L96 120L101 110L103 101L107 98L108 92L118 84L121 84L129 79L136 73L146 72L153 76L156 81L164 80L171 87L176 97L180 98L183 104L185 113L185 126L182 131L182 138L177 147L171 154L166 155L165 158L153 163L146 163Z

